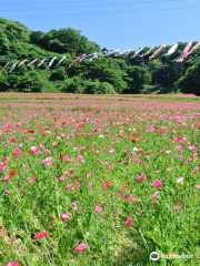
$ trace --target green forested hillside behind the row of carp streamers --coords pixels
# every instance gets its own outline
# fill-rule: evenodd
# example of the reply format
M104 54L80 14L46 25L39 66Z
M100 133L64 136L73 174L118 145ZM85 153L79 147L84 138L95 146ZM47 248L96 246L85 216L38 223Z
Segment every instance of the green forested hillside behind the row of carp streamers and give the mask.
M179 47L172 55L162 57L172 44L169 43L151 61L149 55L130 59L136 52L131 51L128 55L100 57L90 63L86 60L69 68L77 57L107 49L89 41L81 34L81 31L70 27L43 33L31 31L19 22L0 18L0 71L9 62L8 68L0 73L0 91L111 94L147 93L157 90L160 93L181 91L200 95L200 48L182 63L178 63L177 60L181 57L187 42L179 42ZM197 44L196 41L194 44ZM128 43L129 47L131 43ZM149 49L144 48L141 53ZM157 49L158 47L153 49L152 53ZM62 64L53 72L56 64L64 55ZM57 59L46 72L53 57ZM37 68L44 58L43 64ZM34 59L38 61L30 66L23 64L9 73L13 63L19 64L26 59L28 60L27 64Z

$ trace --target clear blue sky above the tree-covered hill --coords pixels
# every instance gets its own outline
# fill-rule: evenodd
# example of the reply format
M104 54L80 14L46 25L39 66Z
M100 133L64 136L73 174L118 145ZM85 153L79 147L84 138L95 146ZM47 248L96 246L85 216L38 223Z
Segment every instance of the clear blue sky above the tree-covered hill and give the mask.
M0 6L3 19L42 32L70 27L101 49L200 41L199 0L0 0Z

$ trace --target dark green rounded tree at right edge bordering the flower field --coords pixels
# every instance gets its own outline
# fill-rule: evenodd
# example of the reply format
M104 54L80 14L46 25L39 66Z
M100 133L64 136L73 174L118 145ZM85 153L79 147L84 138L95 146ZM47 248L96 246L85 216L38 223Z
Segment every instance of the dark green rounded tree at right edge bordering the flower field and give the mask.
M186 74L176 82L176 88L183 93L193 93L200 96L200 62L187 70Z

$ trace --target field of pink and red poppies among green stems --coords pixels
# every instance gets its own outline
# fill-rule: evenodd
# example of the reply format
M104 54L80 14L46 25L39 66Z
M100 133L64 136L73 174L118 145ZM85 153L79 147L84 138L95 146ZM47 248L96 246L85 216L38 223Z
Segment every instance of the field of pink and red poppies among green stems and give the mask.
M200 101L163 98L1 94L0 265L200 264Z

